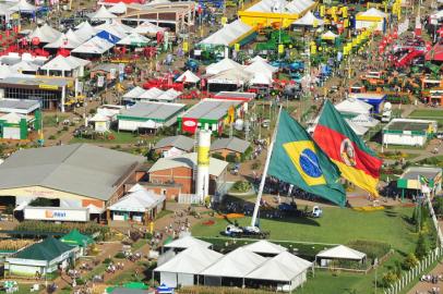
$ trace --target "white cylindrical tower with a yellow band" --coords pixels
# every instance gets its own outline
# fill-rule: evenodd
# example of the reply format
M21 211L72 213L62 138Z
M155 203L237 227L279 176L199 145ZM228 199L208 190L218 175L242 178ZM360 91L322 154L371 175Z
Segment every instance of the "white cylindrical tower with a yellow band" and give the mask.
M199 196L202 203L209 195L209 148L211 131L199 131L195 195Z

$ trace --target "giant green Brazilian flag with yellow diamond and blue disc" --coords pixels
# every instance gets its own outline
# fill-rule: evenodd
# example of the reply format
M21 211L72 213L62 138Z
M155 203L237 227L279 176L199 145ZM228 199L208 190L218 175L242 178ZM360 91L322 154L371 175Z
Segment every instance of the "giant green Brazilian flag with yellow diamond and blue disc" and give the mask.
M339 206L346 204L339 170L285 110L278 122L267 174Z

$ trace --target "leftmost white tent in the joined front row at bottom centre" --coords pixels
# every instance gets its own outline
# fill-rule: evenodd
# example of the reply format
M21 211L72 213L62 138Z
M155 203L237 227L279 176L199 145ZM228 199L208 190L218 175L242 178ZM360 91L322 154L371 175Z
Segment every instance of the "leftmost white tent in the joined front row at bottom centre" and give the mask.
M193 245L179 253L154 271L160 273L160 283L170 287L194 285L194 277L223 257L205 246Z

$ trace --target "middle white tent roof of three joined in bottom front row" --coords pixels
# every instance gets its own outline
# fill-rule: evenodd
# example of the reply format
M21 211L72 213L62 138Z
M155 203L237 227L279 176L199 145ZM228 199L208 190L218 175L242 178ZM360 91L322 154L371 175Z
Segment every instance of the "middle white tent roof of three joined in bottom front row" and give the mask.
M266 261L266 258L239 247L222 257L217 262L202 271L201 274L243 278L264 261Z

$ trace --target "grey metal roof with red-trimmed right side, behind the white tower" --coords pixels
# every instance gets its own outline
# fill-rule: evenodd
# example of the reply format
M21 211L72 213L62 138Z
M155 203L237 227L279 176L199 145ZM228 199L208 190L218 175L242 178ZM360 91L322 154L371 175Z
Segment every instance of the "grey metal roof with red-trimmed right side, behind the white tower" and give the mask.
M183 118L220 120L231 106L237 108L242 101L204 99L183 113Z

